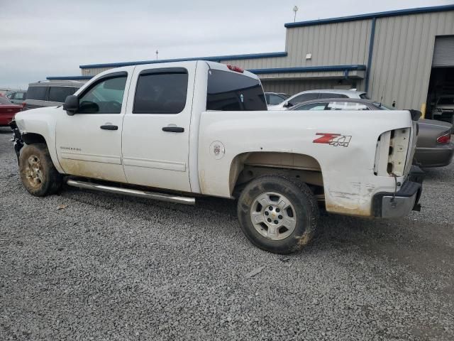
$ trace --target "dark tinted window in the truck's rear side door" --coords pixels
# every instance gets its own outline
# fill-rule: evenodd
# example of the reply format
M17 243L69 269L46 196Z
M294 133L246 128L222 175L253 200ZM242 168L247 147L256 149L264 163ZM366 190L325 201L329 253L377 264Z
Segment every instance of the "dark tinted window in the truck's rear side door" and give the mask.
M178 114L186 105L187 70L183 67L140 72L133 114Z

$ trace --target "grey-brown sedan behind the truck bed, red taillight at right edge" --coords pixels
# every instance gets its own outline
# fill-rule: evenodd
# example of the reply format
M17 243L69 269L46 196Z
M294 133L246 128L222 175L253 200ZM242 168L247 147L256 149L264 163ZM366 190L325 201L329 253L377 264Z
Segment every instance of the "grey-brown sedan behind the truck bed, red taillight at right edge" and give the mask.
M297 104L289 110L389 110L378 102L365 99L316 99ZM420 167L448 166L453 158L452 124L433 119L418 121L419 134L414 159Z

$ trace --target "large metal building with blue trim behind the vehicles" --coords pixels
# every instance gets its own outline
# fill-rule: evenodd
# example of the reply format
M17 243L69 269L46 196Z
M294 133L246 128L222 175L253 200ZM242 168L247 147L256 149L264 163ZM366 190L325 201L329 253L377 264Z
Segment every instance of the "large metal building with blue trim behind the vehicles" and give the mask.
M398 109L454 94L454 5L286 23L285 51L80 65L89 79L112 67L215 60L258 74L265 91L352 87ZM74 77L48 77L55 79Z

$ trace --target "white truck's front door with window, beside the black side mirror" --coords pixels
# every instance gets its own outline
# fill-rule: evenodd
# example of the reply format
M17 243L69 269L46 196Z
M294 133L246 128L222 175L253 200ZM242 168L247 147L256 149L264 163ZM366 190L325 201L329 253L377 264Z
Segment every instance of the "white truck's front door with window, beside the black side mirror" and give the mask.
M65 173L126 183L121 131L127 80L127 72L103 76L78 95L78 112L58 113L55 139Z

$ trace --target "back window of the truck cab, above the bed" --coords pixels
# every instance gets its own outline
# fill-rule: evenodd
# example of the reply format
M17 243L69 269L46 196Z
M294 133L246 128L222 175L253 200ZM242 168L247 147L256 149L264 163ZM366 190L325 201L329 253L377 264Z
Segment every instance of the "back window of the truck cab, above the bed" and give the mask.
M206 110L267 110L260 80L238 72L209 70Z

